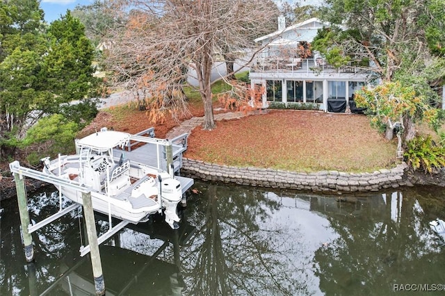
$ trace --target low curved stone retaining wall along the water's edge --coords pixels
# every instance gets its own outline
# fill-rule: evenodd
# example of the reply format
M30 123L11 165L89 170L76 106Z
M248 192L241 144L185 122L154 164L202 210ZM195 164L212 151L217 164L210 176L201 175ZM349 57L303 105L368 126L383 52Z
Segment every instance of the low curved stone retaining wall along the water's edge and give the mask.
M322 171L314 173L289 172L257 167L229 167L184 158L181 174L203 181L222 181L245 186L288 188L312 191L377 191L385 188L405 186L405 163L391 170L373 173L346 173Z

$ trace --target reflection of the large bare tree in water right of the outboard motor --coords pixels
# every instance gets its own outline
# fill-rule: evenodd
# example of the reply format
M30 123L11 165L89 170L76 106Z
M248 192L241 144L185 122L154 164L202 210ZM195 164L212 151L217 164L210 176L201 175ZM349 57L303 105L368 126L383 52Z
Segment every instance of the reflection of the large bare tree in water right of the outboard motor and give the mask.
M298 233L271 220L281 206L277 200L252 188L197 188L200 194L191 197L188 210L197 233L181 259L188 295L307 294L302 267L294 265L304 256Z

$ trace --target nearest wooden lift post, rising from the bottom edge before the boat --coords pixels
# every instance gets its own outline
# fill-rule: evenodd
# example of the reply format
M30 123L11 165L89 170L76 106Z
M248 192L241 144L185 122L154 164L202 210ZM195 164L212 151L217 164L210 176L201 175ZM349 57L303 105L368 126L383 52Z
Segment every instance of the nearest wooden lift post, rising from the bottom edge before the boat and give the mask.
M95 278L96 295L105 295L104 274L102 274L102 263L100 260L99 243L97 242L95 214L92 210L91 192L82 192L83 216L86 221L86 231L90 244L90 257L92 275Z

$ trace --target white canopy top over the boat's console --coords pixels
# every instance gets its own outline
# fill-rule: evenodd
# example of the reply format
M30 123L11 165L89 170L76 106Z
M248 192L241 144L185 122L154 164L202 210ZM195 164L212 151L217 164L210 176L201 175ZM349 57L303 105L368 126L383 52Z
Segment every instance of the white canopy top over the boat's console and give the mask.
M89 147L92 150L106 152L114 147L124 147L130 140L130 134L122 131L98 131L81 138L78 147Z

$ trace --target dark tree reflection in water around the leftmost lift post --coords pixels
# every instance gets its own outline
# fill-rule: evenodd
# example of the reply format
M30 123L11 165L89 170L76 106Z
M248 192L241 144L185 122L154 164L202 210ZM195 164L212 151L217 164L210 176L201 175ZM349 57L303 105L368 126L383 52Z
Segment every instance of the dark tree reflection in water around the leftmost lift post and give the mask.
M58 192L48 195L40 192L30 197L28 208L31 223L58 211ZM58 223L48 224L32 233L37 264L26 264L17 201L8 200L7 203L2 202L4 204L7 204L7 208L1 218L0 295L36 295L33 294L35 291L44 290L59 276L59 265L54 264L55 261L68 254L78 256L79 212L72 211L61 217Z

